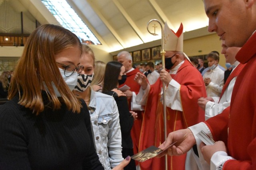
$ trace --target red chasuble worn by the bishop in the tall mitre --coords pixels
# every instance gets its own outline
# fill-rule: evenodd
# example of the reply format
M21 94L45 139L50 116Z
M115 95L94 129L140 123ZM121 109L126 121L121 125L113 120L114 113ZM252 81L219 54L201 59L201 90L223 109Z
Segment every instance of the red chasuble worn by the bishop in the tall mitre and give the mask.
M180 98L183 111L176 111L167 107L167 134L184 129L204 121L204 111L198 106L200 97L206 97L206 90L200 72L185 60L178 72L172 75L180 86ZM158 147L164 139L164 115L163 106L160 102L162 82L160 78L150 86L148 100L142 122L140 137L140 150L152 145ZM184 170L186 154L182 156L168 156L168 170ZM165 158L153 158L140 163L142 170L165 169Z

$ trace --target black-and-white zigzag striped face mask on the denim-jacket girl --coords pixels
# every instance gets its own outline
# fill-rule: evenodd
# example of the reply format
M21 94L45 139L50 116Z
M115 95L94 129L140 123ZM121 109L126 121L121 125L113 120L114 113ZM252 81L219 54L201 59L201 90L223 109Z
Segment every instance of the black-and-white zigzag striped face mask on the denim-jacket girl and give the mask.
M91 84L94 74L80 74L77 76L77 85L74 90L78 92L84 92Z

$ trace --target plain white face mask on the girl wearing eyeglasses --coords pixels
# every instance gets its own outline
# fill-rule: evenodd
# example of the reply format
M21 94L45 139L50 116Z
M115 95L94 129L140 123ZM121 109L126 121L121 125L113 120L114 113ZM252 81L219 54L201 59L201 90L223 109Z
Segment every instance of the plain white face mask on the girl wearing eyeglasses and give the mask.
M68 88L70 89L70 91L74 90L74 88L77 84L77 72L74 72L71 76L66 77L64 75L64 70L61 68L59 68L59 70L60 70L60 74L61 74L62 78L64 79L65 83L68 85ZM68 72L68 71L66 70L66 72ZM45 83L44 83L44 88L47 90L47 92L49 92ZM53 82L52 82L52 88L53 88L56 96L61 97L60 92L57 90L56 85Z

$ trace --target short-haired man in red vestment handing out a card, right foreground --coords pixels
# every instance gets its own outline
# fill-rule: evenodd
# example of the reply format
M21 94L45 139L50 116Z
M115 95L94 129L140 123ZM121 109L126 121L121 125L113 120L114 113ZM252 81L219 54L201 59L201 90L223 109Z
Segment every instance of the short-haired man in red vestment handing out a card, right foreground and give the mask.
M160 148L178 141L168 149L168 154L180 155L197 144L202 153L200 158L211 170L255 170L256 1L204 0L204 6L209 18L208 31L215 31L228 47L242 47L236 59L247 64L236 78L230 107L205 122L170 133ZM204 145L196 137L201 130L213 137L214 145Z

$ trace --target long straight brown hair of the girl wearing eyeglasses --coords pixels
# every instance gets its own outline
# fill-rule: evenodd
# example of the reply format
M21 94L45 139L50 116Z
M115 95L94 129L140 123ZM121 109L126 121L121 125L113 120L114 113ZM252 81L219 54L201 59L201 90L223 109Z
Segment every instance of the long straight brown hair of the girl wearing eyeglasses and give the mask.
M59 109L63 102L68 110L80 113L82 107L76 96L63 80L54 56L71 47L82 45L78 37L63 27L46 24L38 27L28 38L22 56L14 71L8 99L19 95L18 104L25 106L37 115L44 110L42 89L48 88L48 100L52 109ZM57 98L52 82L62 98Z

